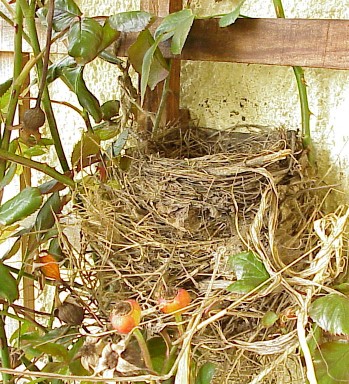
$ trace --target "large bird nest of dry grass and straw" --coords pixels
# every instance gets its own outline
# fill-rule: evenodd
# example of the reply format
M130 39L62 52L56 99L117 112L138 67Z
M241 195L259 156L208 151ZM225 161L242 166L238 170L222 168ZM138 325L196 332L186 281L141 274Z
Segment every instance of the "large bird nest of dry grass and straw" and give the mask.
M107 183L78 196L74 263L100 318L136 299L151 337L173 326L154 310L161 292L185 288L193 301L177 377L190 371L190 349L198 365L217 364L217 383L304 382L297 323L306 327L314 287L342 270L344 223L340 213L320 212L297 135L169 129L127 160L126 170L110 168ZM244 252L269 279L236 293L229 286L241 273L231 258ZM270 323L268 313L276 314Z

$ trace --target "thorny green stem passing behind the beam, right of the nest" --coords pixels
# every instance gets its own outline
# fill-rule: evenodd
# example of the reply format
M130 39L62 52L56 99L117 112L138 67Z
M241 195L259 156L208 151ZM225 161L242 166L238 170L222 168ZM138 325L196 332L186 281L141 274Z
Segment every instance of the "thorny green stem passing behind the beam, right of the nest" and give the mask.
M282 0L273 0L276 16L280 19L285 18L285 11L282 5ZM302 67L293 67L293 72L296 77L299 99L301 104L301 116L302 116L302 137L303 148L309 151L308 159L311 165L314 165L314 151L310 133L310 110L307 94L307 85L304 78L304 71Z

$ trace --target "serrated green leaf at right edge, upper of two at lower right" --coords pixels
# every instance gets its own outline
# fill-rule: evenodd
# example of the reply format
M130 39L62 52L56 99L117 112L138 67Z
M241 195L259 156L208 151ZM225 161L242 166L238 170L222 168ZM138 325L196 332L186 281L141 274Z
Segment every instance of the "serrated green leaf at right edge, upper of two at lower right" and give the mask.
M337 293L316 299L309 316L323 330L334 335L349 335L349 299Z

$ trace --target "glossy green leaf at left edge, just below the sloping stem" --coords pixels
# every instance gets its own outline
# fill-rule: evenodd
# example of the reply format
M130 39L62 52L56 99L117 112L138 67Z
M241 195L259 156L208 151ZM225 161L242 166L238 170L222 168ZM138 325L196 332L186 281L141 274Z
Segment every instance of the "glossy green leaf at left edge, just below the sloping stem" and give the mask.
M11 225L40 208L42 196L39 188L28 187L0 207L0 224Z

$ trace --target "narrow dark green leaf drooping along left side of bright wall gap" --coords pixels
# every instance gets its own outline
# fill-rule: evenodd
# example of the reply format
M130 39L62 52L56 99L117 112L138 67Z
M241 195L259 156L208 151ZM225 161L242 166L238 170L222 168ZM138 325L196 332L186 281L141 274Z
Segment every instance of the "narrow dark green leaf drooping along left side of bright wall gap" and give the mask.
M63 74L74 89L81 106L93 117L96 123L102 120L102 111L97 98L88 90L83 67L64 68Z

